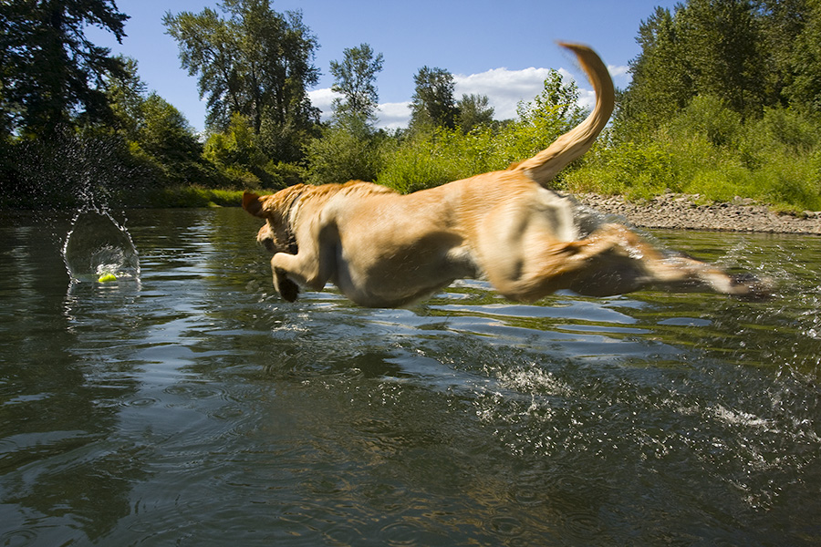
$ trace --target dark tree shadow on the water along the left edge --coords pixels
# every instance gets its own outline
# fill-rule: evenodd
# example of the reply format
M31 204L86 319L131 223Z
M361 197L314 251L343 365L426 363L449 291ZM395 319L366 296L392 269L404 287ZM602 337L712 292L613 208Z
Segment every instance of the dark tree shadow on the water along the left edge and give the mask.
M117 435L114 402L138 382L113 370L110 340L98 341L104 351L86 346L83 319L67 308L59 247L44 244L68 231L57 217L45 225L4 213L0 222L0 538L9 545L60 544L73 530L98 541L129 514L140 475L140 448Z

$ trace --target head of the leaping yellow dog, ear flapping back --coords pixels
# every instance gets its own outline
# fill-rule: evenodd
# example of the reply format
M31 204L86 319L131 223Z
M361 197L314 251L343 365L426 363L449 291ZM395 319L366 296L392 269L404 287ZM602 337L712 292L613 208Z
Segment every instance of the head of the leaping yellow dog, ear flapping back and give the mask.
M296 184L268 196L258 196L250 191L243 193L243 209L265 220L265 226L256 234L256 241L269 252L296 254L290 217L303 190L303 184Z

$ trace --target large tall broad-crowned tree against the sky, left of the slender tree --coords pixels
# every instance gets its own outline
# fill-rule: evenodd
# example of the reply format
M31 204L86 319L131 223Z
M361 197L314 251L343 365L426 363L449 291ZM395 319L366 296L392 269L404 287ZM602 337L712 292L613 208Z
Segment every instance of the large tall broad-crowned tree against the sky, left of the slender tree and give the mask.
M268 0L223 0L221 6L227 18L208 8L163 17L182 67L199 74L208 129L227 129L241 114L261 135L266 154L298 160L319 120L307 96L319 76L312 64L317 38L300 12L278 14Z

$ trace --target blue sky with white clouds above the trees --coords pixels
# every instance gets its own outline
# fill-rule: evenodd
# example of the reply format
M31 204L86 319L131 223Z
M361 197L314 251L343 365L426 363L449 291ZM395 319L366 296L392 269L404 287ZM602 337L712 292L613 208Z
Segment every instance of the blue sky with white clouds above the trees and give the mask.
M179 48L165 34L162 15L171 11L198 13L216 7L216 0L116 0L130 15L118 44L110 34L88 30L88 37L115 54L133 57L149 89L179 108L195 129L202 130L204 102L196 77L180 66ZM629 84L630 59L639 55L639 24L657 5L673 8L678 0L273 0L280 13L301 10L303 22L317 36L314 64L322 72L310 89L311 101L324 113L333 95L332 60L346 47L368 43L384 56L377 79L379 127L407 125L413 76L423 67L441 67L455 79L456 98L481 93L490 98L495 118L513 118L516 103L532 100L550 68L578 78L581 101L592 104L584 74L556 40L586 43L610 67L617 87Z

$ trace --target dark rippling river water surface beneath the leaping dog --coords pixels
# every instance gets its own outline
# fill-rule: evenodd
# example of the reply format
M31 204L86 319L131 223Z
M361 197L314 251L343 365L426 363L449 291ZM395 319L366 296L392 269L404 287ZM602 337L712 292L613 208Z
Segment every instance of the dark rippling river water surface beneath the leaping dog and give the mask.
M70 220L0 214L0 545L821 543L818 238L655 233L764 303L368 310L280 301L239 210L71 284Z

